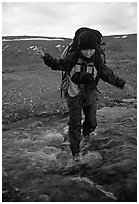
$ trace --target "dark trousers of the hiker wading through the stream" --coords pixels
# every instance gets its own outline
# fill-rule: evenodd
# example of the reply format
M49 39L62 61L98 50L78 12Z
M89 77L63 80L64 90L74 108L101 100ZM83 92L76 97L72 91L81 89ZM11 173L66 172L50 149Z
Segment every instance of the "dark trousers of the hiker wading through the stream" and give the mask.
M83 122L83 135L89 135L90 132L93 132L97 126L96 94L91 96L91 98L91 103L89 105L83 106L81 95L75 97L67 96L67 103L69 108L69 142L73 156L78 155L80 152L82 110L85 115L85 120Z

